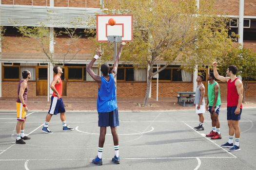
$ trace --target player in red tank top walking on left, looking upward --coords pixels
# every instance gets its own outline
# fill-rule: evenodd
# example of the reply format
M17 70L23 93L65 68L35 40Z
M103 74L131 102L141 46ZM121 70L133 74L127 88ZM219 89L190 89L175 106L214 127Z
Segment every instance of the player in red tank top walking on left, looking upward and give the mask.
M49 109L48 114L46 115L45 118L45 123L44 126L42 128L42 131L46 134L51 134L53 132L51 132L48 128L49 122L52 118L53 115L57 115L60 113L60 119L62 121L62 130L63 131L73 131L73 128L69 128L66 124L66 116L65 116L65 107L64 107L64 103L62 101L61 95L62 95L62 81L61 81L61 74L62 72L62 68L60 68L59 66L55 66L53 68L53 72L56 74L54 76L54 79L50 85L51 89L53 90L53 95L51 97L51 106Z

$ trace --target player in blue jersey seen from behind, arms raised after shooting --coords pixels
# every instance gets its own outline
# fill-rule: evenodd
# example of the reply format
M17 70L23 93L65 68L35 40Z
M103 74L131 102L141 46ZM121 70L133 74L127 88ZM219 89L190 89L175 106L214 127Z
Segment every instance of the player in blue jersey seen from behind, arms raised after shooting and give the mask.
M102 76L98 76L92 70L93 64L102 55L101 50L97 49L96 55L86 67L86 71L90 76L98 83L98 100L97 100L97 110L98 110L98 126L100 127L100 134L98 140L98 155L93 159L93 163L97 165L102 165L102 151L105 141L106 129L108 126L111 128L111 133L114 140L115 156L112 158L112 162L115 164L120 163L119 158L119 145L118 145L118 132L117 126L119 126L118 118L118 105L117 105L117 71L118 62L121 57L121 52L123 46L126 45L122 42L119 46L119 51L116 60L113 65L112 72L108 64L103 64L100 67Z

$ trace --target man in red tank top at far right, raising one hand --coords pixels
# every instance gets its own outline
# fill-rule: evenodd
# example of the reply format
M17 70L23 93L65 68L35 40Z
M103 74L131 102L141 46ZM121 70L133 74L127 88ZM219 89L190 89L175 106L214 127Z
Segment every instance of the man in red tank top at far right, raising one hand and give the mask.
M220 76L217 72L217 62L213 62L214 75L221 82L227 82L227 120L229 127L229 140L221 145L223 148L231 148L230 152L240 151L240 128L239 120L242 113L243 83L236 77L237 68L234 65L228 66L227 77ZM235 134L235 145L233 138Z

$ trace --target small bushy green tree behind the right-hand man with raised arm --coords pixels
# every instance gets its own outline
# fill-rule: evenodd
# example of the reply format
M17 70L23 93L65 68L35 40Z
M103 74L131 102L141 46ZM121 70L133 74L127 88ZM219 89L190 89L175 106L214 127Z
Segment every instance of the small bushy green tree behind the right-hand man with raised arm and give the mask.
M243 82L243 102L245 102L246 91L249 89L249 82L256 80L256 52L250 49L237 49L220 63L219 72L222 75L226 74L229 65L235 65L238 68L237 75L242 77Z

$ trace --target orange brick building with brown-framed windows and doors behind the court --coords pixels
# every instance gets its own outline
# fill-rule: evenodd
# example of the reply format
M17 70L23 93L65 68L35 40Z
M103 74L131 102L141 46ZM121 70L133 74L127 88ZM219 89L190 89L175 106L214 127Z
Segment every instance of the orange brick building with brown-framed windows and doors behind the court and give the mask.
M239 1L243 4L239 4ZM51 94L49 83L53 78L52 66L46 61L46 56L41 53L39 44L32 39L22 37L10 23L10 17L20 19L27 26L38 26L36 17L47 17L44 13L48 10L67 13L68 15L82 14L81 17L100 14L104 0L0 0L0 25L6 28L6 33L1 40L0 56L0 97L16 97L17 86L24 69L32 72L29 81L29 96L47 96ZM242 8L243 7L243 8ZM256 51L256 0L216 0L219 14L230 17L231 31L240 35L239 42L244 47ZM244 11L239 13L239 9ZM38 15L38 16L31 16ZM239 23L239 19L243 23ZM85 23L86 24L86 23ZM243 26L242 26L243 25ZM50 27L50 26L49 26ZM53 26L52 26L53 27ZM56 28L52 28L56 29ZM60 49L66 49L67 37L57 37L54 40L60 48L54 48L55 59L61 59ZM95 49L92 40L82 37L79 44L84 47L78 55L63 68L63 95L67 97L96 97L97 84L86 73L85 68L93 57ZM54 42L52 42L54 47ZM160 63L156 63L159 64ZM98 71L98 67L94 68ZM198 71L208 74L208 68ZM133 65L123 65L118 68L118 97L144 97L146 90L146 69L134 69ZM159 97L174 97L176 91L192 91L196 83L194 74L186 74L179 65L171 65L159 75ZM206 82L205 82L206 84ZM226 96L226 84L220 83L221 96ZM250 82L247 97L256 96L256 82ZM156 97L156 81L152 82L151 96Z

